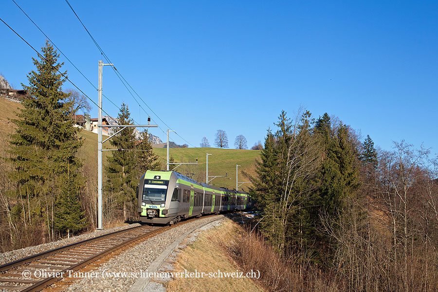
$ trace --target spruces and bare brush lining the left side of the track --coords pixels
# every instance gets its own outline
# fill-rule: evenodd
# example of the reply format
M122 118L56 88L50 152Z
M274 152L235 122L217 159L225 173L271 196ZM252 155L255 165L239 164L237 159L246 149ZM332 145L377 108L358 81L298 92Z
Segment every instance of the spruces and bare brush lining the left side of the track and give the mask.
M67 72L47 41L33 58L35 70L22 85L32 97L11 122L0 159L0 246L2 251L36 245L95 227L97 165L83 164L78 150L83 140L73 127L71 94L62 90ZM85 101L85 108L89 107ZM119 123L132 124L122 104ZM110 141L115 148L105 168L104 223L138 219L135 189L146 169L161 169L146 131L137 141L126 128ZM134 150L134 151L131 151ZM122 175L120 175L122 174ZM105 180L105 178L104 178Z

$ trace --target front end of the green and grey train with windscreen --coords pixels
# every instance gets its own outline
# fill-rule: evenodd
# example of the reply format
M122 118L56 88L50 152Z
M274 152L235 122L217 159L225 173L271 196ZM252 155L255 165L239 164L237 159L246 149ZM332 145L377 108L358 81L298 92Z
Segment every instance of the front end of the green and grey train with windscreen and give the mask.
M142 222L166 224L175 218L178 208L170 206L176 182L172 173L148 170L140 179L137 198Z

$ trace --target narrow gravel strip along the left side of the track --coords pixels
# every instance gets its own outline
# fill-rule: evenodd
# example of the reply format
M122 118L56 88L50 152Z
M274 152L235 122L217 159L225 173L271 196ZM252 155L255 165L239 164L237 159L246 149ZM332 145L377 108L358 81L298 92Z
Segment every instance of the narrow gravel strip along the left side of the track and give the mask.
M86 233L86 234L82 234L82 235L78 235L75 237L70 237L70 238L65 238L65 239L61 239L58 241L54 241L54 242L49 242L49 243L43 243L40 245L36 245L36 246L29 246L29 247L25 247L19 250L14 250L14 251L10 251L10 252L6 252L3 254L0 254L0 265L12 262L14 260L26 257L26 256L33 256L42 252L46 252L48 250L52 250L67 244L71 244L71 243L75 243L81 240L85 240L85 239L89 239L91 237L96 237L96 236L100 236L100 235L104 235L104 234L108 234L111 232L115 232L115 231L119 231L119 230L124 230L124 229L128 229L131 227L135 227L135 226L139 226L139 223L134 223L134 224L129 224L129 225L125 225L125 226L119 226L119 227L113 227L113 228L108 228L108 229L104 229L104 230L96 230L94 232L90 232L90 233Z

